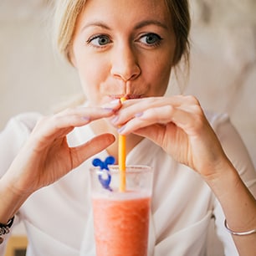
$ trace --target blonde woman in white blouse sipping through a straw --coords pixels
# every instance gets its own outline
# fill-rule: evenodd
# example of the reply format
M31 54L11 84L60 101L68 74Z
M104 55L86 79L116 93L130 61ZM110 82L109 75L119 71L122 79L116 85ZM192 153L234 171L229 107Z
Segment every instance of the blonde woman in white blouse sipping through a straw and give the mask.
M59 1L59 51L88 100L19 115L0 137L0 223L23 220L28 255L95 255L87 170L116 158L118 132L126 164L155 170L149 255L205 255L212 217L227 255L254 254L256 174L238 134L194 97L163 96L189 26L187 1Z

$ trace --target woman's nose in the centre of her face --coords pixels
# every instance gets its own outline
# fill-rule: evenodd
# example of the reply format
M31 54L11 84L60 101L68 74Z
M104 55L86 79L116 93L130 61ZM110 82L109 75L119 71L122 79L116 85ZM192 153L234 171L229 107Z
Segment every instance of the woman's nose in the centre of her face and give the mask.
M123 81L131 81L141 74L135 51L131 46L119 46L113 51L111 74Z

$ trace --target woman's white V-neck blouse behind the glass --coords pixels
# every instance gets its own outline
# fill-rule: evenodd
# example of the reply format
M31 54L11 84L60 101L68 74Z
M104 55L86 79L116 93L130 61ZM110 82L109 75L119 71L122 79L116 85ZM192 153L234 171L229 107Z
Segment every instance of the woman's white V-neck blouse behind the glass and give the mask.
M37 113L18 115L0 134L0 176L7 172L39 117ZM228 157L256 196L256 172L228 115L207 117ZM93 136L90 125L76 128L68 136L69 145L77 146ZM103 160L106 156L107 152L102 151L93 158ZM91 161L84 161L58 182L33 193L18 211L15 223L22 221L27 230L28 256L95 255L88 172ZM148 255L218 255L218 246L212 242L214 233L222 241L226 255L238 255L233 239L223 228L222 208L196 172L173 161L147 139L128 154L126 161L128 165L154 168ZM0 255L4 255L3 251L1 245Z

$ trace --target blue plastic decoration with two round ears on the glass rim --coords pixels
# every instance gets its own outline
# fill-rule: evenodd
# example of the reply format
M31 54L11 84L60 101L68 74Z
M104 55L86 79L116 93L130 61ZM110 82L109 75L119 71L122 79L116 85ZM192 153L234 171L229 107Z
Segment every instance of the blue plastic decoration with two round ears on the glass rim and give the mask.
M111 182L111 175L110 175L110 169L109 165L113 165L115 163L115 157L113 156L108 156L106 157L105 161L101 161L99 158L95 158L92 162L93 166L100 166L100 174L98 176L99 181L105 189L108 189L112 191L110 188L110 182ZM106 178L103 177L104 174L106 174Z

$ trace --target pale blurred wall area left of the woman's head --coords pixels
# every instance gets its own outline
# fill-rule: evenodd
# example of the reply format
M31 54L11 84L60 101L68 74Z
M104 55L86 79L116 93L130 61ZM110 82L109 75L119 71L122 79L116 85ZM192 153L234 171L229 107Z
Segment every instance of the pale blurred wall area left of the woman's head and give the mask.
M80 92L76 72L53 52L43 0L0 1L0 129L23 111L49 113Z

